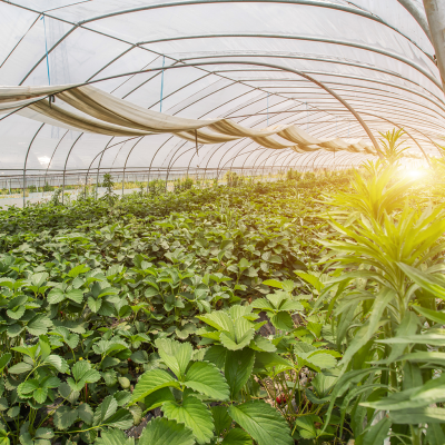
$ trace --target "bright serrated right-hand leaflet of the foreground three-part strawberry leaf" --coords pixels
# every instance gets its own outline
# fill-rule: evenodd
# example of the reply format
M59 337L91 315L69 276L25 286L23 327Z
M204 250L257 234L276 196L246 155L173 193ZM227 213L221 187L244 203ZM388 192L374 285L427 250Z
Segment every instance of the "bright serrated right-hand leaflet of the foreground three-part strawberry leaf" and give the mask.
M184 385L218 400L229 398L226 379L215 365L207 362L195 362L187 370Z

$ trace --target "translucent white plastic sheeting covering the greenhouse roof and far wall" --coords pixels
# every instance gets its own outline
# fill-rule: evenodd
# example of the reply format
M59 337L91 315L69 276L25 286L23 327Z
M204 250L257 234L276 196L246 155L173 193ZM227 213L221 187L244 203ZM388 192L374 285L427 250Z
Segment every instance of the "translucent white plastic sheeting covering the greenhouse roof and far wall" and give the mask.
M404 127L413 152L422 146L436 154L444 134L434 49L396 0L21 0L0 2L0 20L2 86L80 83L187 65L95 86L171 116L230 118L251 128L295 123L316 138L367 139L345 107L290 69L333 89L375 137ZM194 66L200 62L215 65ZM23 168L86 170L99 162L100 168L298 165L305 156L250 139L204 146L197 156L194 142L171 135L111 138L17 115L1 117L0 140L3 175ZM334 162L332 154L323 156ZM353 162L363 155L348 156Z

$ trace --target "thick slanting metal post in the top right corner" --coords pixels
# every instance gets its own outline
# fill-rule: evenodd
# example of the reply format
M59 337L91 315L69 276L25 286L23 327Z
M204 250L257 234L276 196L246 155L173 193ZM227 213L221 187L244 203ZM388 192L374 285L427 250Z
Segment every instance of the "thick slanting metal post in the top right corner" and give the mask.
M445 2L443 0L424 0L424 7L445 91Z

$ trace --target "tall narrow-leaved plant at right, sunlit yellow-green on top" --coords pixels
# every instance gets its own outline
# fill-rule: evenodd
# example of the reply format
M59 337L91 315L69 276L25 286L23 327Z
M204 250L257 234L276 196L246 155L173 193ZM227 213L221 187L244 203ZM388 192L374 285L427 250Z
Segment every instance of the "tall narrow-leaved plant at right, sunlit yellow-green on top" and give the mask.
M424 386L436 387L439 383L432 379L433 375L441 373L445 364L429 359L427 347L438 346L429 334L417 339L434 325L424 324L425 310L436 314L436 297L445 294L434 294L416 278L444 270L441 260L445 243L441 237L445 231L445 207L421 211L405 205L400 209L409 182L392 185L394 171L393 165L376 169L367 179L357 176L355 194L332 200L338 210L334 218L330 216L336 239L320 240L328 250L325 260L335 273L316 307L329 303L337 347L344 354L329 411L337 397L354 387L348 400L354 403L350 414L356 443L383 443L392 427L392 444L417 445L426 437L433 445L443 443L432 437L443 437L442 429L434 425L444 422L445 409L437 407L432 414L428 405L445 399L433 390L417 405L397 404L409 400L413 393L423 394ZM355 212L346 219L345 212L353 208ZM390 404L397 405L396 411ZM378 411L387 412L389 417L375 423ZM374 437L374 442L366 437Z

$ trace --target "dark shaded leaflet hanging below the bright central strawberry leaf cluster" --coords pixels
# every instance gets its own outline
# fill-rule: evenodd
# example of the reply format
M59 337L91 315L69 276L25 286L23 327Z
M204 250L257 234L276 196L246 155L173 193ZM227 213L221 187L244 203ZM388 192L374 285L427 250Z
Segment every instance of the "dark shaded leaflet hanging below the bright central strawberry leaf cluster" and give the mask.
M224 374L230 387L230 399L235 399L246 385L254 369L254 363L255 352L249 348L227 353Z

